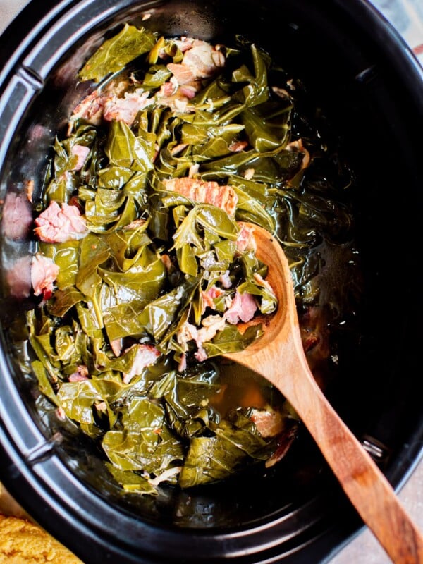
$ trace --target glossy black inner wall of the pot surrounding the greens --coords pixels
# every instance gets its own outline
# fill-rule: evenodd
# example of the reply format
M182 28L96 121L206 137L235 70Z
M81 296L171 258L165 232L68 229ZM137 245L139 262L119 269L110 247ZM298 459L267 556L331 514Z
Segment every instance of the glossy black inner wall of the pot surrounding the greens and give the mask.
M324 109L329 127L339 135L341 152L348 155L357 174L355 228L365 287L361 332L358 338L345 336L341 378L328 393L359 436L370 434L386 445L392 457L386 465L389 474L410 434L419 427L419 405L413 393L417 329L412 314L419 225L419 207L413 204L417 150L411 141L417 138L416 106L371 37L364 33L357 37L357 26L336 2L314 4L250 0L150 3L145 11L150 9L152 18L144 24L142 3L116 3L114 15L99 18L94 35L90 31L75 44L70 42L66 55L41 82L13 136L3 171L4 186L20 188L27 178L34 178L35 195L39 195L54 135L66 127L70 109L86 89L75 84L75 73L104 34L113 34L121 23L223 43L240 34L267 49L274 60L305 82L309 97ZM88 10L81 13L89 18ZM64 42L68 39L66 26L62 33ZM43 49L45 59L54 58L47 44ZM39 80L35 73L27 79ZM23 245L13 252L27 250ZM15 309L4 308L5 326L15 314ZM53 417L40 419L37 403L41 400L34 400L34 382L20 374L13 359L11 362L32 419L47 438L56 431L61 434L55 448L59 458L82 482L127 515L139 515L161 526L224 530L270 522L294 511L311 526L317 515L322 518L322 513L330 513L338 503L338 486L305 431L283 465L265 475L254 470L204 490L181 493L169 489L157 498L123 498L92 446L75 436L71 427L59 426ZM393 479L398 482L397 476ZM298 522L290 525L291 532L297 527Z

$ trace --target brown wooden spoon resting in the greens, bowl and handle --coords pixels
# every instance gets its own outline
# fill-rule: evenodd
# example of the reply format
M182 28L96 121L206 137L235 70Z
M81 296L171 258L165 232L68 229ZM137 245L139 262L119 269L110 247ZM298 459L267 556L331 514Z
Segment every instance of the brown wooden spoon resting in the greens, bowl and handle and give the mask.
M293 405L345 494L394 563L423 564L423 537L398 501L384 474L333 407L310 371L300 336L293 282L281 245L265 229L254 228L257 257L269 266L266 280L278 309L263 317L264 335L226 358L243 364L271 382Z

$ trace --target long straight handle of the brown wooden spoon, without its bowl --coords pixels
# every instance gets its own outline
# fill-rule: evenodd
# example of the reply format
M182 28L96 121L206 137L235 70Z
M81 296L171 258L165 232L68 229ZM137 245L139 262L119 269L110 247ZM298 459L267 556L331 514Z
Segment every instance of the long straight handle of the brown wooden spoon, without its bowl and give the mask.
M288 400L309 429L364 523L394 563L423 564L422 534L384 474L333 410L312 376L299 376L298 381L301 385L296 391L291 388Z

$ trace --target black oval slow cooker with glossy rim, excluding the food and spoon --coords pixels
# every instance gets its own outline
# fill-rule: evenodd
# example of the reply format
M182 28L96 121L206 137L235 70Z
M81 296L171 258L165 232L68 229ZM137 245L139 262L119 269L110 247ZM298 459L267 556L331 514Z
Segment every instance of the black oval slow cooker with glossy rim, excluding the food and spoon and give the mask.
M364 294L360 338L327 393L399 488L421 458L420 129L423 73L364 0L46 0L8 27L0 51L0 199L42 178L80 97L82 63L123 23L164 35L250 37L307 83L357 173ZM23 256L31 243L2 256ZM37 410L11 346L20 305L1 298L0 479L87 564L322 562L362 523L307 434L283 465L196 491L123 496L92 446Z

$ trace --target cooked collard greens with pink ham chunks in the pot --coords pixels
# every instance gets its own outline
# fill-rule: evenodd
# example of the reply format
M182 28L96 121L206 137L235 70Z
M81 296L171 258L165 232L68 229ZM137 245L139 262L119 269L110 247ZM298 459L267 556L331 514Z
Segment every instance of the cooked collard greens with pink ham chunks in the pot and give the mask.
M245 39L213 47L127 24L79 78L98 84L56 139L35 219L39 389L98 441L125 491L274 464L295 414L254 376L234 384L218 357L261 336L240 321L277 307L242 222L293 249L312 303L304 253L336 214L298 189L310 155L289 77Z

